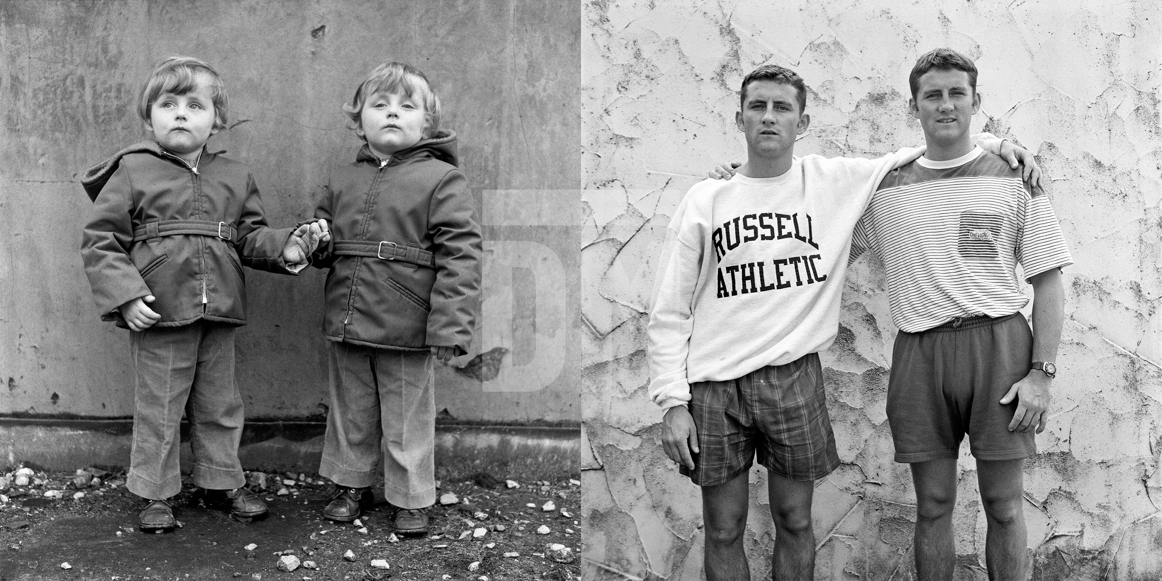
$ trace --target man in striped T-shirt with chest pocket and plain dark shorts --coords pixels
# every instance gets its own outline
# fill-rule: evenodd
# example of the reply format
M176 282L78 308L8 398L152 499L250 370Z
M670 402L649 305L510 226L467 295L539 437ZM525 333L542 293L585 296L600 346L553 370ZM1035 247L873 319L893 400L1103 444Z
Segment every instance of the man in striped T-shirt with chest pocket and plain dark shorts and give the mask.
M980 108L976 66L937 49L909 76L909 108L927 152L888 173L855 228L852 260L883 260L899 328L888 386L896 461L917 496L916 568L953 578L956 457L968 433L988 517L989 579L1025 579L1025 458L1048 419L1063 314L1062 266L1073 264L1040 188L969 137ZM1033 331L1016 265L1033 286Z

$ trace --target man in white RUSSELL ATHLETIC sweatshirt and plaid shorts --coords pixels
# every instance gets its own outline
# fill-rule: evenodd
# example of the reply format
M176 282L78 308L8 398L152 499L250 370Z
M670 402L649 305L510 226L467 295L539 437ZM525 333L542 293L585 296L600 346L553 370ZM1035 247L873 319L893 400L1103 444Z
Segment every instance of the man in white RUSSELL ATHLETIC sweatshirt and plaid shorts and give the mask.
M729 181L690 188L655 280L651 397L667 410L667 456L702 487L709 581L749 579L743 533L755 453L777 531L774 578L811 579L813 481L839 465L817 352L838 331L855 223L880 180L923 152L795 157L805 102L787 69L743 80L736 123L747 160ZM1033 167L1000 139L982 145Z

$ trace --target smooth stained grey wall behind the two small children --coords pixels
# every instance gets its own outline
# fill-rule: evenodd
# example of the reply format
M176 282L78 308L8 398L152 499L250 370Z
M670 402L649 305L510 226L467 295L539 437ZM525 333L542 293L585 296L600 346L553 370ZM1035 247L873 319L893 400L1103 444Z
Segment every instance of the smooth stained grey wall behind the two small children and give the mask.
M210 146L251 165L274 225L308 216L328 168L354 158L339 107L367 72L423 70L486 236L481 340L464 370L437 364L438 406L460 421L575 423L579 26L567 0L0 3L0 415L132 413L129 333L99 321L81 268L78 177L144 137L138 91L181 53L223 76L234 127ZM324 273L308 271L248 277L250 418L321 411Z

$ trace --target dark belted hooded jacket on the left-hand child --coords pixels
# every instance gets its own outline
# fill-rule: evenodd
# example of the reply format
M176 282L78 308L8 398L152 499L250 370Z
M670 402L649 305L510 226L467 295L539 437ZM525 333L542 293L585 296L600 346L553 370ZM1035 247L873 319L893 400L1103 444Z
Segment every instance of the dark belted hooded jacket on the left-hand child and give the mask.
M242 267L294 274L281 258L293 229L266 225L244 164L203 150L193 167L142 142L91 167L81 185L93 200L81 257L102 321L128 327L117 307L153 295L157 327L243 325Z

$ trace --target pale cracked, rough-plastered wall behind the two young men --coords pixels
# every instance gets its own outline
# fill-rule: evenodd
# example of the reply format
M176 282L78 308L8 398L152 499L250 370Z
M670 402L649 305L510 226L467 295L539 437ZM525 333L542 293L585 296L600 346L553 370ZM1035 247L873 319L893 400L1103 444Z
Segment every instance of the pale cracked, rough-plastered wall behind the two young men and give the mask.
M777 8L776 8L777 6ZM588 579L701 579L697 488L661 450L647 397L647 300L687 189L745 156L738 84L763 63L810 86L796 152L878 156L923 142L908 72L941 45L976 59L977 129L1039 153L1076 264L1048 429L1027 462L1033 579L1162 573L1162 3L1156 0L588 1L582 20L582 459ZM910 579L914 494L884 417L882 265L848 275L823 353L842 466L818 482L816 579ZM984 516L961 451L957 579L985 579ZM769 568L755 469L746 546Z

